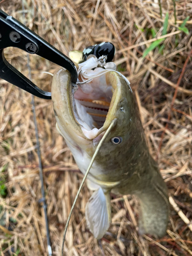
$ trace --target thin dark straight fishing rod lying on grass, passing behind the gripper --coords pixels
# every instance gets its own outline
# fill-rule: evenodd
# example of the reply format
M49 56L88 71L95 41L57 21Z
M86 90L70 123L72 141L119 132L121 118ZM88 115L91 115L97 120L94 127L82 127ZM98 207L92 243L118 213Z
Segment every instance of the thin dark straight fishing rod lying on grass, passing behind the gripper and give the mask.
M24 13L25 12L24 0L22 0L22 10L23 10L23 23L26 26L26 19L25 19L25 13ZM29 79L32 80L29 53L27 53L27 68L28 68L28 73L29 73ZM34 102L34 96L33 95L32 95L31 104L32 104L32 112L33 112L33 121L34 121L34 124L35 124L35 137L36 137L37 155L38 155L38 162L39 162L39 176L40 176L40 181L41 181L41 195L42 195L42 198L39 201L42 202L42 208L44 208L45 223L46 223L46 234L47 234L47 247L48 247L49 256L52 256L52 249L51 249L51 243L50 243L50 237L49 237L48 218L47 218L47 205L46 205L45 190L44 190L44 178L43 178L43 175L42 175L40 143L39 143L39 137L38 137L37 118L36 118L35 102Z

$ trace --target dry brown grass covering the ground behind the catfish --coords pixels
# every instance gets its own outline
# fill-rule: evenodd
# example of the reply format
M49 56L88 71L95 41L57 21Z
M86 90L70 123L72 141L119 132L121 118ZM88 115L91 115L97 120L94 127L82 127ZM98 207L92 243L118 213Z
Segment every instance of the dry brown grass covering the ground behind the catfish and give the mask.
M113 222L102 239L107 255L192 255L192 2L176 1L177 25L171 0L162 0L162 18L150 0L59 1L26 0L27 26L64 54L85 46L112 41L115 62L128 77L135 93L151 154L159 162L170 193L170 222L160 240L139 236L138 203L131 196L112 195ZM21 22L21 1L0 1L0 8ZM165 13L169 21L163 53L150 46L153 28L161 36ZM190 16L189 35L178 31ZM9 61L26 76L26 53L9 48ZM30 56L32 79L41 89L51 89L56 65ZM183 72L183 73L182 73ZM180 83L178 82L181 79ZM44 214L31 95L0 80L0 166L6 180L7 196L0 199L0 255L47 255ZM175 95L175 96L174 96ZM62 233L82 180L72 154L57 133L52 102L35 98L44 166L45 190L53 255L60 255ZM86 185L76 204L67 232L65 254L101 255L96 239L87 230L84 208L90 197ZM8 230L9 229L9 230Z

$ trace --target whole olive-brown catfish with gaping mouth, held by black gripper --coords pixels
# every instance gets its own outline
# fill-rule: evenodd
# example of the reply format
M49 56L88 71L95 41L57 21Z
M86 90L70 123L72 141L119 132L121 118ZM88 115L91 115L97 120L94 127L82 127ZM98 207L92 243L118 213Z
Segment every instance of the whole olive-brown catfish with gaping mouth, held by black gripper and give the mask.
M89 70L91 75L103 70ZM94 76L92 76L94 77ZM110 192L139 198L139 231L163 237L168 223L168 196L158 165L148 152L138 106L129 81L119 72L95 75L91 81L72 84L65 69L55 72L52 101L56 127L65 138L83 174L96 147L116 119L88 175L94 190L86 205L86 220L100 239L111 223Z

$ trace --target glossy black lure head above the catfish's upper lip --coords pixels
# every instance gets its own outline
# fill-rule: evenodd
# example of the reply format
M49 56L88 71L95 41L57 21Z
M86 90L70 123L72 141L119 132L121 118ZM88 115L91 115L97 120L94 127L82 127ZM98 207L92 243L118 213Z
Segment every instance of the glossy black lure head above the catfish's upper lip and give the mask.
M105 62L111 62L115 55L115 46L111 42L101 42L99 45L88 46L82 52L83 61L86 61L91 54L97 58L106 56Z

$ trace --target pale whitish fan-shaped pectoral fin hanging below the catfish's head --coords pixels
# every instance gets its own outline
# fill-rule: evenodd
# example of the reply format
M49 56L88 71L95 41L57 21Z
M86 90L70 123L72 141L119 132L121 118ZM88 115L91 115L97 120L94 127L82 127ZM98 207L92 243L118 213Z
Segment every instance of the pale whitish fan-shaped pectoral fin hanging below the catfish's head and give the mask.
M94 191L86 205L86 220L94 237L101 239L111 224L110 192L104 193L100 187Z

